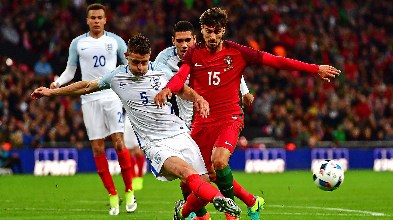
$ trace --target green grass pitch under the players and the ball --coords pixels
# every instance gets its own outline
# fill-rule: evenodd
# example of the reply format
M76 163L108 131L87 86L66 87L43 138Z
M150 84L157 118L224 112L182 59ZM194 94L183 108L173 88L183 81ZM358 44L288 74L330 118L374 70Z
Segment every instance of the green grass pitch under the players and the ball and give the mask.
M263 220L393 219L393 172L350 170L343 185L332 192L318 189L310 171L233 176L249 192L263 196L267 203L260 215ZM108 195L97 174L0 176L0 219L171 220L174 202L182 199L179 181L158 181L151 174L144 178L143 190L135 194L136 212L127 213L123 203L118 216L109 216ZM124 199L121 176L114 176L114 182ZM244 203L235 202L243 211L240 219L249 219ZM206 208L211 219L225 219L213 205Z

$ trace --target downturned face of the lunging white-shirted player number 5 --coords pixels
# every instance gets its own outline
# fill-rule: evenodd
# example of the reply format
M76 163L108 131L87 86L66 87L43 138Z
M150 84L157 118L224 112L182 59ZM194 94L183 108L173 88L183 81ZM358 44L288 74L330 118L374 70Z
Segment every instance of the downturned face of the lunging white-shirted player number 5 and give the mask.
M148 70L150 54L140 55L140 54L128 54L124 52L124 56L128 61L130 71L135 76L143 76Z

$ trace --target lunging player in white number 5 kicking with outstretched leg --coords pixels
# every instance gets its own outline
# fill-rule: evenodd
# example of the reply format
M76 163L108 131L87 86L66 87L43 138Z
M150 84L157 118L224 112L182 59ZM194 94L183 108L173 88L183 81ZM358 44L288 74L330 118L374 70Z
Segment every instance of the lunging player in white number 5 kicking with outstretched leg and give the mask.
M160 102L163 108L156 107L158 102L154 97L167 85L173 73L162 63L149 62L150 54L149 40L138 34L128 42L125 52L127 66L120 65L101 78L79 81L58 89L40 87L31 93L31 99L82 95L112 88L125 107L140 147L153 167L154 176L162 181L180 178L193 192L187 202L176 202L173 219L185 220L191 212L208 202L213 203L218 211L239 216L241 209L233 200L223 197L208 183L207 169L198 146L188 134L188 126L173 114L169 102ZM209 116L209 104L193 89L184 85L176 94L194 102L202 117Z

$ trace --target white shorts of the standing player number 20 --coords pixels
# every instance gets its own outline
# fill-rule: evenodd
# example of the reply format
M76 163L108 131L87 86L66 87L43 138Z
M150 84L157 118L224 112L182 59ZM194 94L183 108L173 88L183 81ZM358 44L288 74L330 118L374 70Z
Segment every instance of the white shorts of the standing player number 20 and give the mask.
M82 105L83 121L89 140L124 133L123 105L119 98L101 98Z

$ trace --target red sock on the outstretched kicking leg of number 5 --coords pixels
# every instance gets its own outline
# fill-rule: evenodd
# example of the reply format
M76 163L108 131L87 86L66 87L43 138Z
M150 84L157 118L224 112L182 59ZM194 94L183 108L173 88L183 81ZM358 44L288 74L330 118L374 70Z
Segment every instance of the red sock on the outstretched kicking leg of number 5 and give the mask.
M216 187L203 181L199 174L191 174L188 176L187 179L185 179L185 184L193 190L196 196L207 202L213 202L213 198L216 196L223 196ZM196 209L196 211L197 210L198 209Z

